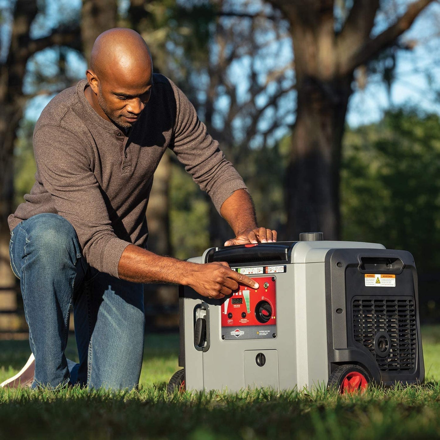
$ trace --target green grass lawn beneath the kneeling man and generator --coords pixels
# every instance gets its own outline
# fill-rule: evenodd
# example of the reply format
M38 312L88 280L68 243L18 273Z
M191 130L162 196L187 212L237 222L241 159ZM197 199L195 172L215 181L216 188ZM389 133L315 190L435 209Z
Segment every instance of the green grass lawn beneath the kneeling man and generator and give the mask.
M419 439L440 436L440 326L422 329L424 385L362 396L269 390L167 397L178 335L147 337L139 391L0 389L0 438ZM75 346L68 355L75 359ZM0 341L0 381L29 356L27 341Z

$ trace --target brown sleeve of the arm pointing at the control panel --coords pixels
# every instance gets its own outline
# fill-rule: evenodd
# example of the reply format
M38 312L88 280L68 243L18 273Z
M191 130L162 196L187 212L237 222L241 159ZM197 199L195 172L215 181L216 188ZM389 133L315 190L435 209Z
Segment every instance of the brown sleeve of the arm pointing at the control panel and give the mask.
M86 260L99 271L118 276L128 242L117 238L101 188L85 154L87 146L59 126L44 125L33 137L37 174L58 214L77 232Z

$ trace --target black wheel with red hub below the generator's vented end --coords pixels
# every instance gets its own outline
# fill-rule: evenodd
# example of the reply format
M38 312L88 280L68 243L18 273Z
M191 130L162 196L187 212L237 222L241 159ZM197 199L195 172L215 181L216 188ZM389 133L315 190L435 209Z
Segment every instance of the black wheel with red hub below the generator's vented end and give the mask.
M371 383L368 371L354 364L345 364L337 367L330 374L327 388L337 389L340 394L362 394Z

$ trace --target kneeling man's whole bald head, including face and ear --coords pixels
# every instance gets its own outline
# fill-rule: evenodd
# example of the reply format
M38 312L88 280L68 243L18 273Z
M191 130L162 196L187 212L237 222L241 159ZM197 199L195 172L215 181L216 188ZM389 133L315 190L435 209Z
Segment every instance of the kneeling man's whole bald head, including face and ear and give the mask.
M143 38L132 29L103 32L93 44L84 94L96 112L130 128L147 105L153 88L153 63Z

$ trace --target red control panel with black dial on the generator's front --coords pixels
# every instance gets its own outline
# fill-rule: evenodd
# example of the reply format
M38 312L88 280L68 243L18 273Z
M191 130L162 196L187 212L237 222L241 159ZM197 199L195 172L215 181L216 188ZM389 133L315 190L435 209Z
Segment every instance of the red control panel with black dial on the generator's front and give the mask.
M222 327L276 324L275 277L250 277L258 289L238 286L221 306Z

